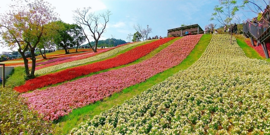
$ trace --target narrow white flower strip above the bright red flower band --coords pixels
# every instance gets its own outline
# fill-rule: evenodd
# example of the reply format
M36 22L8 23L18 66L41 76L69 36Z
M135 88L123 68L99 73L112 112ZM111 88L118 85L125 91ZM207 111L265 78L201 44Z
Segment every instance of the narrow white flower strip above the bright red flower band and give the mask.
M156 39L153 39L153 40L156 40ZM104 53L101 53L99 55L96 55L96 56L93 56L93 57L89 57L89 58L86 58L86 59L76 60L76 61L72 61L72 62L67 62L67 63L62 63L62 64L58 64L58 65L54 65L54 66L49 66L49 67L46 67L46 68L42 68L42 69L36 70L35 71L35 75L42 75L42 74L46 74L46 73L50 73L50 72L55 72L56 70L59 70L59 69L70 68L70 67L73 67L73 66L86 64L88 62L93 62L93 61L96 61L96 60L105 59L105 58L108 58L110 56L113 56L116 53L118 53L118 52L120 52L122 50L125 50L127 48L130 48L130 47L139 45L141 43L153 41L153 40L145 40L145 41L141 41L141 42L136 42L136 43L124 45L124 46L115 48L113 50L110 50L108 52L104 52Z

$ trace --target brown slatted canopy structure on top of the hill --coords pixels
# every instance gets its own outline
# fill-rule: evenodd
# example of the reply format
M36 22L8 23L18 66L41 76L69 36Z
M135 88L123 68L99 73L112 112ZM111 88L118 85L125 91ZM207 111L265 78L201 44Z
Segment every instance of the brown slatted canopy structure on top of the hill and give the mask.
M167 31L167 36L184 36L186 31L190 32L191 34L199 34L204 32L198 24L168 29Z

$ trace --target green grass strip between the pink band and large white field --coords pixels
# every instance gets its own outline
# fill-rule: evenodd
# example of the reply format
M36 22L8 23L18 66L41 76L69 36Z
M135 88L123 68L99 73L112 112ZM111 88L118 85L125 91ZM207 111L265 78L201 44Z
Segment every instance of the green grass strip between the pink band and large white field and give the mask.
M117 104L122 104L125 100L128 100L133 96L140 94L144 90L147 90L153 85L164 81L166 78L172 76L180 70L187 69L201 57L202 53L210 43L211 37L211 35L203 35L190 55L188 55L188 57L184 59L183 62L181 62L179 65L167 69L164 72L158 73L157 75L147 79L145 82L128 87L122 92L115 93L112 96L103 99L103 101L98 101L88 106L75 109L69 115L61 117L57 121L59 124L57 130L59 130L62 134L67 134L79 123L85 122L87 119L92 119L93 116L100 114L100 112L108 110Z

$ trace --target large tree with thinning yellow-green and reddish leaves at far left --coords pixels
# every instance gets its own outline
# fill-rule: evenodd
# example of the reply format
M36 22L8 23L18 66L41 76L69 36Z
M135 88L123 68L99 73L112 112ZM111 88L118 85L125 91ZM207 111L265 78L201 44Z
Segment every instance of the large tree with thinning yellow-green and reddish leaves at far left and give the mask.
M39 42L44 40L42 35L50 29L46 24L56 21L57 18L53 11L54 8L48 2L43 0L26 2L27 4L23 5L23 0L16 0L15 4L10 5L8 12L0 15L0 35L5 46L10 49L18 48L24 61L26 76L29 79L35 76L35 49ZM31 73L28 68L28 59L25 56L27 50L30 50L31 53Z

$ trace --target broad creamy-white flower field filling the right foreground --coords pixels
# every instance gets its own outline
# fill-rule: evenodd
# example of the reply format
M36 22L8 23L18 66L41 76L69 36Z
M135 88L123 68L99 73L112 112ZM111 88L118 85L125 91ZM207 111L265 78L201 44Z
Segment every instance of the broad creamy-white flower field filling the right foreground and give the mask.
M213 35L200 59L73 134L270 134L270 63Z

